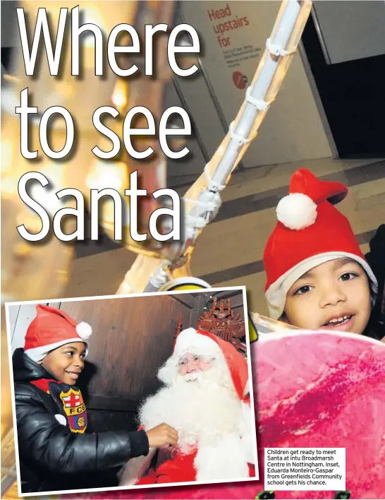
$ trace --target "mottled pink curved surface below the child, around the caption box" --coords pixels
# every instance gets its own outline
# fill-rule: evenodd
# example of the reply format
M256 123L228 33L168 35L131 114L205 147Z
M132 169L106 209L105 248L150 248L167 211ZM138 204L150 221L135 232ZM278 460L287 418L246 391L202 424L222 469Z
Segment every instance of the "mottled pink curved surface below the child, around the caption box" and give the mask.
M346 448L351 498L385 498L385 345L354 334L286 333L253 343L252 360L259 482L122 490L82 498L255 499L264 490L263 448L285 446ZM286 491L275 492L275 497L333 499L334 494Z

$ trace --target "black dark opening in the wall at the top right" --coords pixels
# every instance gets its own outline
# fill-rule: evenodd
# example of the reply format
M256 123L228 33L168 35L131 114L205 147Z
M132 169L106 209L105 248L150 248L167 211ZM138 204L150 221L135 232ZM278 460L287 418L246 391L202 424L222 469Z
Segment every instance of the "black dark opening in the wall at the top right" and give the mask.
M385 55L327 64L312 16L302 43L338 157L384 157Z

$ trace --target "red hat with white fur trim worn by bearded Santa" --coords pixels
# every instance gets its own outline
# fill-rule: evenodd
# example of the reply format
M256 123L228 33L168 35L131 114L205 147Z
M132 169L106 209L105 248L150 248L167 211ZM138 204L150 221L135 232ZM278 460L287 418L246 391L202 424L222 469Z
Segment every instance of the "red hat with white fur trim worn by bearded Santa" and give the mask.
M236 348L226 340L204 330L187 328L181 331L176 339L173 355L167 360L163 368L159 370L159 379L165 383L170 383L175 374L179 360L186 355L197 355L204 359L218 358L224 359L231 375L233 386L238 398L248 402L249 384L247 361L236 350Z

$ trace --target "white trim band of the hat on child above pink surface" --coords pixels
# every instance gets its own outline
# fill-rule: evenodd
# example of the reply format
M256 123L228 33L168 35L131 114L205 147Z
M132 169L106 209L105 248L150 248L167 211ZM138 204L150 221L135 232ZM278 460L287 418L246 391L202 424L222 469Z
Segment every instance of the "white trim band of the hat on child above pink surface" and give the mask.
M378 292L377 279L373 274L367 261L355 254L349 254L348 252L327 252L326 254L314 255L307 258L305 261L298 263L293 268L289 269L284 275L282 275L276 282L274 282L268 288L265 293L267 306L269 308L269 316L271 319L279 319L283 314L286 304L286 295L291 289L293 284L300 279L302 275L307 273L312 268L320 266L321 264L329 261L333 261L336 258L351 258L353 261L359 263L369 277L370 287L374 295ZM372 306L374 305L374 300L372 300Z

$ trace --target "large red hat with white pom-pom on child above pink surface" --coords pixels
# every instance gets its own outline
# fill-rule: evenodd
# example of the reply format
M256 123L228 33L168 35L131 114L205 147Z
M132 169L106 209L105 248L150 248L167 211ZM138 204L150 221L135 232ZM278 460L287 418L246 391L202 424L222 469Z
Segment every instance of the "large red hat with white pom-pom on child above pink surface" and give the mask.
M347 194L343 184L320 181L307 169L299 169L291 177L289 194L276 208L279 222L264 249L265 297L272 319L281 317L286 294L296 280L336 258L357 261L367 273L372 291L377 293L377 280L349 221L334 207Z

